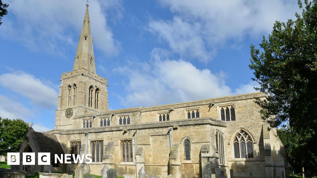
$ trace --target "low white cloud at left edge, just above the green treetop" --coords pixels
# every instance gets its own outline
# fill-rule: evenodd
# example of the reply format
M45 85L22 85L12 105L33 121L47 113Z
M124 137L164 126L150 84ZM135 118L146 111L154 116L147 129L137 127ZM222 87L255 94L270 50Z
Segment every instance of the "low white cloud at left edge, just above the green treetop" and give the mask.
M26 108L23 104L0 95L0 117L9 119L23 119L33 117L31 110Z

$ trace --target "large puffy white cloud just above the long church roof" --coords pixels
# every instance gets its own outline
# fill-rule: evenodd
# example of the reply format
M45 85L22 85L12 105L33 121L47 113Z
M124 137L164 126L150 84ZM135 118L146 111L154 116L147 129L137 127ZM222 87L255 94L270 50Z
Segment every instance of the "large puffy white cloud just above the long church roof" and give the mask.
M132 63L114 70L128 77L123 104L149 106L230 95L223 73L197 69L184 60L169 60L154 49L150 63Z

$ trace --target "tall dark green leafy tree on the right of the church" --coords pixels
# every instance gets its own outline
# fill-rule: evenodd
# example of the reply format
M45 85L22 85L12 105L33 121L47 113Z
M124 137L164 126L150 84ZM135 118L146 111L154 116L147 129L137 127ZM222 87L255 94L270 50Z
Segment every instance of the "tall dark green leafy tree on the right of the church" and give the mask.
M276 21L261 50L251 45L249 67L261 85L256 90L267 94L256 100L262 119L288 129L302 149L302 165L316 171L317 0L298 5L302 13L286 23Z

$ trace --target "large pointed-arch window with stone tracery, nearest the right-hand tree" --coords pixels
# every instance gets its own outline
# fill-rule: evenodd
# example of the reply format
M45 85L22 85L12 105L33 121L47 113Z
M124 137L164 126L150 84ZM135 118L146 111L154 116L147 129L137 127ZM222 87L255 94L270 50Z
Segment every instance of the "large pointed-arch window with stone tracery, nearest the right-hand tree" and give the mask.
M253 143L250 136L240 130L233 143L235 158L253 158Z

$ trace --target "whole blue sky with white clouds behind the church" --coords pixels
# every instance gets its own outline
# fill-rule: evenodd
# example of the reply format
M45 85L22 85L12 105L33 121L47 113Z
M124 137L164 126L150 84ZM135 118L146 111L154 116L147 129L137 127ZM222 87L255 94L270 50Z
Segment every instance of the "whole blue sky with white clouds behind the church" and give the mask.
M0 117L54 129L61 73L73 68L85 0L3 0ZM250 45L275 21L301 12L295 0L89 0L96 72L109 109L256 92Z

